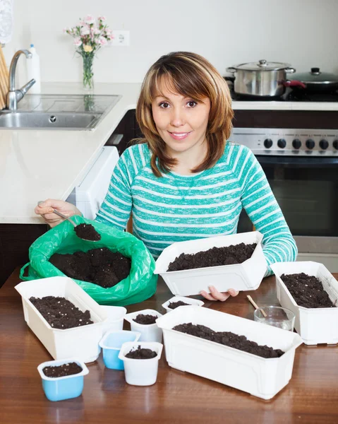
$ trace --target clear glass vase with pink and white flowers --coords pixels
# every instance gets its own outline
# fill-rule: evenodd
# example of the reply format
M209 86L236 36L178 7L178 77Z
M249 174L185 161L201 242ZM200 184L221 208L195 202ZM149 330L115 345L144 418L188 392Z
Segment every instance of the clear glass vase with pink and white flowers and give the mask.
M80 19L78 25L65 28L64 33L74 38L76 53L83 59L83 88L92 90L94 88L94 72L92 69L94 57L101 49L107 45L114 36L106 25L106 18L99 16L97 20L88 15Z

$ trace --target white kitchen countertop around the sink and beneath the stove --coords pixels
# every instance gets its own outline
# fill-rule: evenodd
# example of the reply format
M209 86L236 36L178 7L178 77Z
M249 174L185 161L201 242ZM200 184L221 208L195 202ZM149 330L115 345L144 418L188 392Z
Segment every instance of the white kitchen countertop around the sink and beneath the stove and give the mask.
M37 201L67 199L128 110L140 83L99 83L95 94L121 95L94 131L0 130L0 223L43 223ZM84 94L80 84L48 83L42 93ZM233 102L234 110L336 110L338 102Z

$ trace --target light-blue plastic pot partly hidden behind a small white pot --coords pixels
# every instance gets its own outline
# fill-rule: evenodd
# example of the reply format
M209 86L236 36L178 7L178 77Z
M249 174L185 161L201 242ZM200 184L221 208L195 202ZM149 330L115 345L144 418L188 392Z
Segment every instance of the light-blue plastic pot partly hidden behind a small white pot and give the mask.
M127 341L138 341L140 335L138 331L107 331L99 342L99 346L102 348L104 365L112 370L124 370L123 360L119 359L121 346Z

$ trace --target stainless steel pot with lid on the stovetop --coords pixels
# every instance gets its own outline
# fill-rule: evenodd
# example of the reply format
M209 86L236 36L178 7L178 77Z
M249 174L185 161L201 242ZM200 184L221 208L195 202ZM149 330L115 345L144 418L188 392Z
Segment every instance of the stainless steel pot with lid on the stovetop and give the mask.
M227 68L227 72L236 73L234 91L240 95L278 97L285 93L288 86L305 88L300 81L286 79L286 73L294 73L296 69L280 62L268 63L262 59L258 62L231 66Z

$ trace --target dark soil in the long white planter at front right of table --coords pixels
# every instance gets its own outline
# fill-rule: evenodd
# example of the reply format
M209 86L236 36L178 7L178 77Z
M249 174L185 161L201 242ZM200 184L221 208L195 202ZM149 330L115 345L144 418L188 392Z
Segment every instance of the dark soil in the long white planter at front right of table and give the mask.
M239 349L253 355L261 356L262 358L279 358L284 354L280 349L273 349L269 346L260 346L255 341L250 341L246 336L239 336L231 333L231 331L213 331L207 326L201 324L179 324L174 326L173 330L181 331L181 333L191 334L206 340L215 341L231 348Z

